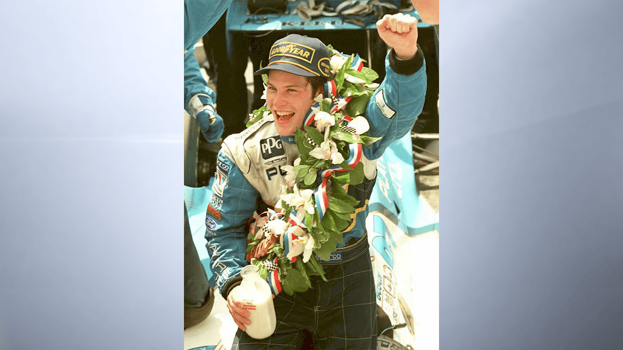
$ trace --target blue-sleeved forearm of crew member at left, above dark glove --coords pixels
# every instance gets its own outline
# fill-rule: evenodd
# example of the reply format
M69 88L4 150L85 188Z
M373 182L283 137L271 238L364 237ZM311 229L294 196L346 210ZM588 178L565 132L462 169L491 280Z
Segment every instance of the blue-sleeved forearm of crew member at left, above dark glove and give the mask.
M189 102L198 93L202 94L200 95L202 105L214 107L216 102L216 93L207 87L206 80L201 75L201 69L199 69L199 64L194 57L193 51L194 49L191 49L184 54L184 110L190 115L193 115L193 113L191 113Z

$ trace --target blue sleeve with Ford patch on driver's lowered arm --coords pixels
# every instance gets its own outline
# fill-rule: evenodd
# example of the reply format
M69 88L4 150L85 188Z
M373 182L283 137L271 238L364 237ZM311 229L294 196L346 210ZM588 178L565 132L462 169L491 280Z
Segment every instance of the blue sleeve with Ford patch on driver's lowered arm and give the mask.
M212 197L206 211L206 247L216 285L225 299L242 280L242 267L249 265L245 260L246 225L257 209L258 198L259 192L240 169L219 152Z

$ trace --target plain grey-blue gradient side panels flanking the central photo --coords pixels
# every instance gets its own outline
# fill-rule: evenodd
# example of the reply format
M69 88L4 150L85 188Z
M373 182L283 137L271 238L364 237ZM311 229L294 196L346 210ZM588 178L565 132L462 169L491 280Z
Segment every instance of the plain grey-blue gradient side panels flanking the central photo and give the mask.
M623 4L440 5L440 348L621 349ZM0 30L0 348L181 348L181 3Z

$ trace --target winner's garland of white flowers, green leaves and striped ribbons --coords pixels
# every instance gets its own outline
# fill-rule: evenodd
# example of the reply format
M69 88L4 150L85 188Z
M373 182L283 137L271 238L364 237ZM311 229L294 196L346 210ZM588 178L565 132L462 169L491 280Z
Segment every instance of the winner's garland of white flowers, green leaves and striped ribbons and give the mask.
M247 260L259 267L275 295L306 291L313 275L326 281L312 253L328 261L343 242L341 232L359 204L346 187L364 179L362 145L380 139L367 135L368 120L361 116L378 87L373 83L378 74L364 67L359 55L328 48L333 78L325 83L326 98L318 95L305 116L305 131L295 133L300 158L282 166L285 184L276 210L255 216L249 224ZM262 78L266 83L266 75ZM269 115L267 105L260 107L247 127Z

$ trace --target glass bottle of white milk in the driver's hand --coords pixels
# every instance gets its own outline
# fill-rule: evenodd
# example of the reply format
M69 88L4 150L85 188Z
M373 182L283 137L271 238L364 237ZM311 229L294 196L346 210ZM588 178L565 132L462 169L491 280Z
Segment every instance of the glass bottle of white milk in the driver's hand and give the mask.
M277 318L269 284L259 275L259 268L247 265L240 272L242 282L232 290L236 300L249 310L251 324L247 325L247 334L251 338L264 339L275 331Z

